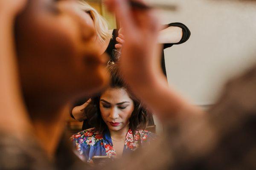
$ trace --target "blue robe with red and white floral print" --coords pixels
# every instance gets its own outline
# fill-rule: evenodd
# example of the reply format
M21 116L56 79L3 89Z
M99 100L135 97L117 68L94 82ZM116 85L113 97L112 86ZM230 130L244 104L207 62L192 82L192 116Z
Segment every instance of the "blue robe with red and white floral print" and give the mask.
M136 130L133 136L131 129L128 130L125 139L123 154L131 153L140 146L148 144L157 135L147 130ZM116 156L109 131L99 134L95 128L83 130L71 136L71 141L75 144L79 157L92 163L93 156L110 156L112 159Z

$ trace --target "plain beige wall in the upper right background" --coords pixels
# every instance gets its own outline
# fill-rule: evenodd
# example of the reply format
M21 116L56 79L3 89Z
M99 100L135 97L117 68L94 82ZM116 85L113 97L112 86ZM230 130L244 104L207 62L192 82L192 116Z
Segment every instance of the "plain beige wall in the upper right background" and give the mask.
M192 32L165 51L168 80L195 105L213 104L227 77L256 62L256 3L241 1L166 0L178 11L163 12L162 23L181 22Z

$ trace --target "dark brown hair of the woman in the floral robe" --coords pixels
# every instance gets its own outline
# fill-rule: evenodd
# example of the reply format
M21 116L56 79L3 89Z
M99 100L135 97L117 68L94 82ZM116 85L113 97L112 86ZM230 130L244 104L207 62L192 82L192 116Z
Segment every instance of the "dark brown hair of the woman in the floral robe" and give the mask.
M108 65L108 72L110 74L110 88L124 88L129 97L134 102L134 111L131 113L130 129L132 133L135 133L137 129L145 129L148 125L150 114L148 111L142 107L142 104L139 99L137 99L131 92L128 91L128 86L122 79L122 76L119 71L118 65ZM99 109L99 100L101 94L91 98L91 102L84 108L84 113L87 116L88 122L91 126L95 127L99 133L103 133L108 127L102 119L100 109Z

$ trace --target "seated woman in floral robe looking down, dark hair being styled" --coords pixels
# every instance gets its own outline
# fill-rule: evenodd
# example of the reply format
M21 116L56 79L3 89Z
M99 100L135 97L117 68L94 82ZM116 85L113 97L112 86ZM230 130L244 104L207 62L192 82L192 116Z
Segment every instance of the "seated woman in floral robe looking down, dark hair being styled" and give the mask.
M128 91L117 65L109 65L108 72L109 88L84 109L93 128L71 137L80 158L88 162L93 162L93 156L119 158L156 138L145 130L150 113Z

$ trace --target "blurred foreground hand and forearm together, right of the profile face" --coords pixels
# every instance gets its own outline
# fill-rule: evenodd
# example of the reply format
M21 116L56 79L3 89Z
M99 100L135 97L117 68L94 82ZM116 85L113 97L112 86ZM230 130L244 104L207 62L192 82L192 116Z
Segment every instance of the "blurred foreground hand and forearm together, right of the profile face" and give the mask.
M125 36L120 66L134 94L162 120L200 114L199 108L168 87L161 73L160 46L156 43L159 25L153 11L131 11L122 0L108 0L107 4L122 22L124 36L129 35Z

